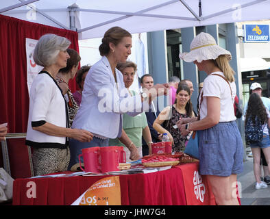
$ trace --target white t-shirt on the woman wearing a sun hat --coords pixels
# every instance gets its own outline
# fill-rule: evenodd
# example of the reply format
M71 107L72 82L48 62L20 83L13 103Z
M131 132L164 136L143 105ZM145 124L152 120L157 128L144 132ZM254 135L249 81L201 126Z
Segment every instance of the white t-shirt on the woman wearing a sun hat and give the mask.
M222 72L214 72L212 74L223 75ZM207 99L206 96L216 96L220 99L221 113L219 122L230 122L236 120L234 116L234 97L236 96L236 85L234 82L229 82L232 88L232 94L230 86L227 81L217 75L208 75L204 79L204 87L202 88L203 101L201 103L201 95L199 96L200 106L200 118L203 119L207 116Z

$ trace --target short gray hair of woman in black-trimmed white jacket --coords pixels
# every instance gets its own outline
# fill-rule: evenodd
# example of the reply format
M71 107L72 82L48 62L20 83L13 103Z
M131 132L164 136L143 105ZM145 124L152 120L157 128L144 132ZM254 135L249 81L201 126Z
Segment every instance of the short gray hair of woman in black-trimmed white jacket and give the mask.
M45 34L40 37L34 50L34 61L40 66L50 66L56 62L60 51L69 48L71 41L57 36L56 34Z

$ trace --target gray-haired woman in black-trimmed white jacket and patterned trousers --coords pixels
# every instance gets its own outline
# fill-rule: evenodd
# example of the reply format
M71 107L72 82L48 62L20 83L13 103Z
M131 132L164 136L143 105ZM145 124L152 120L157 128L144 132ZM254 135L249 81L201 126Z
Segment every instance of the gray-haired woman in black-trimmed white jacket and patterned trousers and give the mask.
M42 36L34 50L34 61L44 68L29 92L29 116L25 144L34 148L35 175L65 171L69 165L69 138L90 142L93 134L69 128L66 101L56 75L66 67L71 42L55 34Z

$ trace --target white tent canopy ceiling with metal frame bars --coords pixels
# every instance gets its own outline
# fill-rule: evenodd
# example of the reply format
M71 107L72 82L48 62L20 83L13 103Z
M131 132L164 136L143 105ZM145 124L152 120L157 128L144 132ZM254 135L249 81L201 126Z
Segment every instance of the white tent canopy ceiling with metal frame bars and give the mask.
M32 3L29 8L27 4ZM68 8L77 4L77 8ZM201 5L201 10L199 10ZM269 0L9 0L0 14L71 29L75 12L79 39L103 36L119 26L131 33L270 18ZM201 11L201 13L200 13Z

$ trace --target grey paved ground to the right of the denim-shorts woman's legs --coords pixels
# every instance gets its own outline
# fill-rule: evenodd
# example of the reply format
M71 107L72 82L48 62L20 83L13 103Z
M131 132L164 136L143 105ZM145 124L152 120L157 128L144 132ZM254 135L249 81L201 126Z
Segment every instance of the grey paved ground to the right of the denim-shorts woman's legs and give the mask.
M247 151L247 154L249 151ZM270 205L270 185L268 188L256 190L253 172L253 157L247 157L244 171L237 176L241 195L241 205Z

